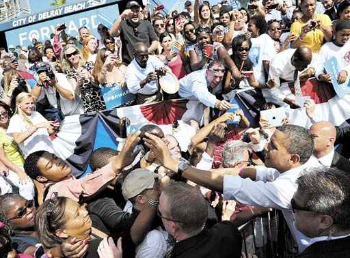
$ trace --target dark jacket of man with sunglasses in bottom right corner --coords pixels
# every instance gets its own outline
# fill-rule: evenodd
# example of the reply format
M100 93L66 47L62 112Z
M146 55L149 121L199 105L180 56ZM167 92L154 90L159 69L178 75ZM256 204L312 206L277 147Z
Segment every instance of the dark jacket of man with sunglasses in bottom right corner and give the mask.
M350 257L350 236L330 241L320 241L308 246L299 258L344 258Z

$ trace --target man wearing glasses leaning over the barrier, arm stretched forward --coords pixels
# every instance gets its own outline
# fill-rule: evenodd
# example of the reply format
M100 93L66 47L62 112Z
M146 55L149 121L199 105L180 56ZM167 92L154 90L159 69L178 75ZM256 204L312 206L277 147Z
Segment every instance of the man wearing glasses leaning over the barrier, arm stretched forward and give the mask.
M191 72L180 83L178 94L181 98L199 100L204 105L220 110L230 109L230 103L226 100L218 100L216 94L222 92L222 78L226 68L219 59L214 59L208 64L207 69Z

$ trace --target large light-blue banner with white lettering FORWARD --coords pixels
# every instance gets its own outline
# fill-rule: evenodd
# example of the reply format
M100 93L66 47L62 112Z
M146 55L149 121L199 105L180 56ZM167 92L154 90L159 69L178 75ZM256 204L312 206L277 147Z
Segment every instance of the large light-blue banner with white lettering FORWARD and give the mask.
M62 23L66 24L66 34L77 37L80 27L87 27L96 38L100 38L97 32L99 23L106 27L111 27L119 16L118 5L109 5L103 8L96 8L79 14L72 14L69 17L56 18L43 23L29 25L20 29L6 31L6 41L8 45L21 46L31 45L31 39L36 38L40 42L50 40L50 34L55 33L55 27Z

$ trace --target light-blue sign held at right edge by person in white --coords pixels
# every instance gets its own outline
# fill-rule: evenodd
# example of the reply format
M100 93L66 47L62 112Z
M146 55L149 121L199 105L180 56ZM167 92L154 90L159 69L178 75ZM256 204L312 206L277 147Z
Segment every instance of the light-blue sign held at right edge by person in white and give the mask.
M336 57L328 59L325 62L324 67L326 72L331 74L332 85L336 91L336 94L339 96L339 98L344 98L345 95L350 93L350 87L348 87L349 76L347 76L347 81L345 81L345 83L338 83L338 74L340 72L340 68Z

